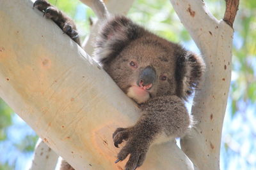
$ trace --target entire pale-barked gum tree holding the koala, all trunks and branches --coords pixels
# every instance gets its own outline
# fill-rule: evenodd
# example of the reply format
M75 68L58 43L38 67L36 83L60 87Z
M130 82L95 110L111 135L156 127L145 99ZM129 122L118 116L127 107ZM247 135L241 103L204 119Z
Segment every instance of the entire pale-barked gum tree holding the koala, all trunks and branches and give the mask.
M108 15L100 1L83 3L95 11L99 22ZM174 141L152 146L141 169L219 169L232 24L239 1L226 1L223 20L216 20L204 1L171 3L207 64L205 83L196 92L192 108L198 124L181 140L182 150ZM0 97L74 168L123 167L125 162L114 164L118 148L111 134L116 127L136 121L136 104L86 51L33 10L32 4L28 0L0 3ZM129 6L118 9L129 10ZM84 47L88 48L92 47Z

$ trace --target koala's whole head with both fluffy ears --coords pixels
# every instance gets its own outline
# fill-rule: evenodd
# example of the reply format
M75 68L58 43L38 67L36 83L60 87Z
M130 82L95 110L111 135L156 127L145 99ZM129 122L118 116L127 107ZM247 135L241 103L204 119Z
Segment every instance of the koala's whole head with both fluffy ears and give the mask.
M137 103L164 95L186 99L204 71L201 57L124 16L106 21L94 55L116 84Z

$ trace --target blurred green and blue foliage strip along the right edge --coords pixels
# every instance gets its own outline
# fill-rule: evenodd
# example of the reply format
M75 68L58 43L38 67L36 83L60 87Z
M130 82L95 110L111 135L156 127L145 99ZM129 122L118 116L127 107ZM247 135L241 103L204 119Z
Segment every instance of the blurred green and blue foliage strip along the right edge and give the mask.
M223 128L225 169L256 169L256 3L240 1L234 23L232 81ZM230 119L230 120L228 120ZM237 160L237 161L236 161Z

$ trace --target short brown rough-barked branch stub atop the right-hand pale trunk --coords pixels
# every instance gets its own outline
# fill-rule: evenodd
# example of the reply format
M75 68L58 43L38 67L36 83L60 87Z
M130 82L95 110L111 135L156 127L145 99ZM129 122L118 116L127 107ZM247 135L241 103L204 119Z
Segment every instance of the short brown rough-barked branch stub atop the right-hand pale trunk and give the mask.
M236 12L239 6L239 0L225 0L226 11L223 20L227 22L230 27L233 27L234 20L236 18Z

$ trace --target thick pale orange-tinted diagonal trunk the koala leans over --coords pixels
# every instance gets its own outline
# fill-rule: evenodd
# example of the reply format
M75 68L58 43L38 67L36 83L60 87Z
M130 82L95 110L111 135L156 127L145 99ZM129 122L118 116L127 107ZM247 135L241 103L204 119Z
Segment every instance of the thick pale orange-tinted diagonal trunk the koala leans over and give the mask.
M108 74L28 0L0 2L0 97L76 169L120 169L112 133L138 108ZM150 148L141 169L193 169L174 144Z

